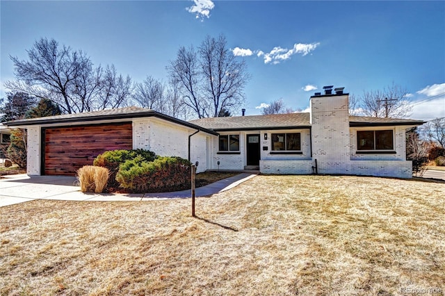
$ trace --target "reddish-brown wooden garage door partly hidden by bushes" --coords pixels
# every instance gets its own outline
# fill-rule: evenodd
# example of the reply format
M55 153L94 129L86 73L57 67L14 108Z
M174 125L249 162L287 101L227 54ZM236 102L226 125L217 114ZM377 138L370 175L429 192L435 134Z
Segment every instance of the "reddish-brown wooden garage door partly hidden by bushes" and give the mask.
M107 150L131 149L131 123L44 130L44 174L74 175Z

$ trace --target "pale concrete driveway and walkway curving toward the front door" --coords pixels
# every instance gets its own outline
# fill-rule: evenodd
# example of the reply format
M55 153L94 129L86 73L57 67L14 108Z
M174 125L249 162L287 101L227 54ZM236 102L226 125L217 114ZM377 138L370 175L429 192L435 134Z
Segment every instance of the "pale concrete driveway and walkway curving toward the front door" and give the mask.
M254 176L256 174L238 174L207 186L196 188L195 196L203 197L229 190ZM83 193L76 183L76 178L73 176L27 176L26 174L3 176L0 179L0 206L29 202L34 199L134 202L191 197L191 190L138 194Z

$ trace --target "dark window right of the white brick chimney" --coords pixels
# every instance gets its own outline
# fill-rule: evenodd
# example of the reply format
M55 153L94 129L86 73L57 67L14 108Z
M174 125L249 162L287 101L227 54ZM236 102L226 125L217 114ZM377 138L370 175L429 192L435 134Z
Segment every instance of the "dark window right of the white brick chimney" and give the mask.
M394 149L393 131L357 131L357 150Z

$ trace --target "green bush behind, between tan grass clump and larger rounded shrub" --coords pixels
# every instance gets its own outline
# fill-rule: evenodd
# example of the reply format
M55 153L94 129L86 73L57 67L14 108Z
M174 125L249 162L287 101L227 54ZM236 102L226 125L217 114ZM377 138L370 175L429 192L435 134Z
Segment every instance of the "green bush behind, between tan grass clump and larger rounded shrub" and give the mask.
M152 151L136 149L136 150L112 150L105 151L103 154L99 154L93 165L97 167L106 167L110 172L110 177L108 178L108 188L119 187L118 181L116 181L116 174L118 173L119 166L125 161L135 159L140 156L144 161L154 161L156 154Z

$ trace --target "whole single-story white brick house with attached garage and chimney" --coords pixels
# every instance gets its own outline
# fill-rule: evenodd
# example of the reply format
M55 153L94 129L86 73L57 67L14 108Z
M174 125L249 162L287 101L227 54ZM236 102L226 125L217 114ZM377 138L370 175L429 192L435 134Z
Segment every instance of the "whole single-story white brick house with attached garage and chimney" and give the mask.
M129 107L6 122L28 130L29 175L75 174L112 149L180 156L205 170L266 174L412 177L405 131L419 120L348 115L348 94L326 88L309 113L204 118L185 122Z

